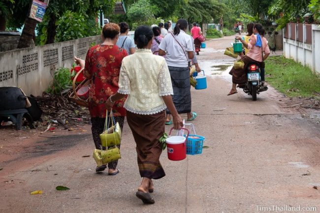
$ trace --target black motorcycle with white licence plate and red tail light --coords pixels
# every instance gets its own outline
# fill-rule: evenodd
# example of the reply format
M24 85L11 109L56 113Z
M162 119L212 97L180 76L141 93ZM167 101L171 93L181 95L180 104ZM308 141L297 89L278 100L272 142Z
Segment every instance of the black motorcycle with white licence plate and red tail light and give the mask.
M253 62L249 63L246 68L247 82L242 87L243 91L252 95L252 100L256 100L256 95L262 91L267 91L268 87L264 86L260 78L260 65Z

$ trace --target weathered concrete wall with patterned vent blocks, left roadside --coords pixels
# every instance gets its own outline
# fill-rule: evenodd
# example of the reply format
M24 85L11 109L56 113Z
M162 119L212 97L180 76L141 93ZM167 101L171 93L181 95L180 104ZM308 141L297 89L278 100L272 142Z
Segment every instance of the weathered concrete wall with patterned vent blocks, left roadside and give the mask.
M85 59L89 47L100 43L100 36L92 36L1 52L0 87L20 87L27 95L41 95L52 83L57 68L71 68L73 56Z

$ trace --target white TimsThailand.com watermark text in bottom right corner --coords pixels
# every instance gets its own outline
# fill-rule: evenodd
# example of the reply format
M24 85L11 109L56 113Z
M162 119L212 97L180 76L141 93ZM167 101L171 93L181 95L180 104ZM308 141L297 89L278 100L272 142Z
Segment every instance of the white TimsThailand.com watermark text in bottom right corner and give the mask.
M311 206L278 206L278 205L272 205L272 206L262 206L262 205L256 205L256 210L258 212L317 212L317 207L311 207Z

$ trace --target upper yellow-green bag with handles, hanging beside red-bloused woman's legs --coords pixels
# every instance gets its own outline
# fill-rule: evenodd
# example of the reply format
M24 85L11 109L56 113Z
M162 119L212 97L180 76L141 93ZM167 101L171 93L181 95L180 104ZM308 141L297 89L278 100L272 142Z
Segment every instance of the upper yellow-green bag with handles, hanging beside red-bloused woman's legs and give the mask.
M111 127L109 128L111 122ZM114 123L114 118L112 111L109 115L109 123L108 123L108 112L105 118L104 131L100 134L100 140L102 143L102 147L111 147L115 145L119 145L121 143L121 128L119 123Z

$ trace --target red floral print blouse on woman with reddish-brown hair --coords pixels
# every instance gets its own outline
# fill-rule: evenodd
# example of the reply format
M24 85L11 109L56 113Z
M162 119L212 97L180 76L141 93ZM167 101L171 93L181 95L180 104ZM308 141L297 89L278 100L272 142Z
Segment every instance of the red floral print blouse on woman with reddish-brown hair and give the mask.
M89 111L92 118L105 118L106 101L119 89L118 81L121 61L127 56L125 49L117 45L96 45L89 49L84 75L91 79L89 91ZM115 102L114 116L126 116L123 107L126 98Z

